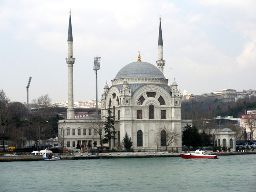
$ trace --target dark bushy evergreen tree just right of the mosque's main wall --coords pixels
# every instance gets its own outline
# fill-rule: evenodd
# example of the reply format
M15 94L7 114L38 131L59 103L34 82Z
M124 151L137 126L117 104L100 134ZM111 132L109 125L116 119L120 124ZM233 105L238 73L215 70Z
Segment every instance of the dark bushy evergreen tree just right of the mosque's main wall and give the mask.
M202 138L196 127L187 124L182 132L182 144L186 146L197 147L202 144Z

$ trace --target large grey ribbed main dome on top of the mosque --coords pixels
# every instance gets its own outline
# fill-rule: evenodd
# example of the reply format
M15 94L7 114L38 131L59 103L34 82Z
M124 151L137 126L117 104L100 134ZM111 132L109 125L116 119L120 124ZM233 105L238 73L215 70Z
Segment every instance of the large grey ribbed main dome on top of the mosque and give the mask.
M124 66L115 79L124 78L161 78L166 79L164 74L154 65L147 62L133 62Z

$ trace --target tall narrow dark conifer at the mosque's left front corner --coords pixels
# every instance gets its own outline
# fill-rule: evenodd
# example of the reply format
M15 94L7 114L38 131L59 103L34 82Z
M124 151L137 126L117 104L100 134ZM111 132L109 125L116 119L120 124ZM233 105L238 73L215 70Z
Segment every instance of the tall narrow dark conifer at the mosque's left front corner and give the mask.
M109 148L111 149L111 139L116 139L116 130L114 126L114 116L111 115L111 109L108 108L108 116L105 117L106 122L104 124L104 139L102 140L103 143L108 143Z

